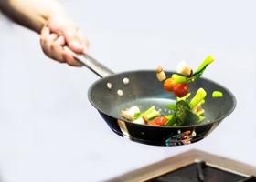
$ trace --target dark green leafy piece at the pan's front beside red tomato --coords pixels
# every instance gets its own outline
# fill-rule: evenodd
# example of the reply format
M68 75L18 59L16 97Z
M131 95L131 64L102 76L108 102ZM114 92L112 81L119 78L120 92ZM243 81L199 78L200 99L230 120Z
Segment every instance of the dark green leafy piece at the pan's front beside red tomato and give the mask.
M186 101L181 100L176 103L175 120L177 126L197 124L199 117L194 114Z

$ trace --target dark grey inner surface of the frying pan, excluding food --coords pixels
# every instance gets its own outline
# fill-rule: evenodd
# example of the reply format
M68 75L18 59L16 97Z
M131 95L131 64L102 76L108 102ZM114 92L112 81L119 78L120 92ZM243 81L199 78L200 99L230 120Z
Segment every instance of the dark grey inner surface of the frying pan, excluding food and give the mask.
M166 76L171 76L173 72L166 72ZM129 78L129 84L123 84L123 78ZM112 84L112 88L107 87L107 83ZM195 96L197 89L203 87L208 96L204 104L206 110L205 121L220 120L235 107L235 98L224 86L201 78L190 85L191 96ZM117 94L118 90L123 91L123 96ZM212 98L214 90L223 92L223 97ZM124 72L102 78L95 82L89 90L91 104L102 113L115 118L121 118L120 112L124 108L139 106L141 111L155 105L156 109L161 109L162 115L170 114L166 106L176 101L176 96L165 92L163 83L159 82L155 76L155 71L131 71Z

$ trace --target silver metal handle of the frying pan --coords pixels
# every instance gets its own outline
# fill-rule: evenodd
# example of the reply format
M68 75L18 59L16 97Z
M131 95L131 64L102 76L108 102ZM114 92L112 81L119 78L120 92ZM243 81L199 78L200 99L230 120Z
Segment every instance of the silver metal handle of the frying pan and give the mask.
M77 54L74 53L69 49L68 46L64 46L64 49L69 51L74 58L80 62L81 65L88 67L92 72L94 72L97 76L100 77L105 77L105 76L110 76L114 74L112 70L110 70L108 67L103 66L99 61L94 59L92 56L88 54Z

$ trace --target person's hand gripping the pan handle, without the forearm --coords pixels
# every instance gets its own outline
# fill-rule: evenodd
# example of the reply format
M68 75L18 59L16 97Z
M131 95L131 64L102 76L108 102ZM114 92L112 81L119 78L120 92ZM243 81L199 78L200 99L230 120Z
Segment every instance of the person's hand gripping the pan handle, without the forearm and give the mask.
M69 66L81 65L69 51L63 49L64 45L78 54L86 53L89 47L88 40L81 34L80 28L64 15L49 17L48 24L41 30L40 44L47 56Z

